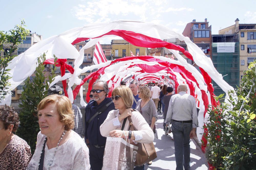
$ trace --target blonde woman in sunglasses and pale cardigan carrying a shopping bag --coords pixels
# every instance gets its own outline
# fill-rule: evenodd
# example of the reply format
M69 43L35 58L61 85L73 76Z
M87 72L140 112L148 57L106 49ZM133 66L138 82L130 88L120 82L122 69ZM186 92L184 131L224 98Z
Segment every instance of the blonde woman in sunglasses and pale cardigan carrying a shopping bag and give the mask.
M135 142L151 143L154 140L154 133L148 126L143 116L138 111L131 109L133 104L133 94L129 87L119 86L112 92L112 100L115 109L109 112L106 120L100 126L102 136L128 138ZM129 120L126 119L124 131L121 130L124 119L131 116L133 126L136 131L129 131ZM124 133L123 133L124 132ZM125 134L125 135L124 135ZM126 135L129 134L129 135ZM144 170L145 167L134 167L136 170Z

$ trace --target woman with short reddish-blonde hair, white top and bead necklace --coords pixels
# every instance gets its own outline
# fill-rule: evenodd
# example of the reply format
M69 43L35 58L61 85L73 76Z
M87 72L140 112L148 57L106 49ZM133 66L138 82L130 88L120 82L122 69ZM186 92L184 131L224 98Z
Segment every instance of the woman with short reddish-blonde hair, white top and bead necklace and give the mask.
M90 169L89 149L73 130L74 113L66 96L50 95L37 106L41 131L27 169Z

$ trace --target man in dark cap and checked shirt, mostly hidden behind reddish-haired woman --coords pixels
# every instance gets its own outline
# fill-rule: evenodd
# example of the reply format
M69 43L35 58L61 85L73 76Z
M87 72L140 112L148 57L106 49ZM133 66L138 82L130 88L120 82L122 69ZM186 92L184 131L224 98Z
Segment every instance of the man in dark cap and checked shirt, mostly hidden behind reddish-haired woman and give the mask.
M51 86L48 89L47 95L49 96L53 94L64 95L64 91L60 86ZM80 109L77 107L77 105L75 104L72 104L72 110L74 111L74 122L75 122L73 130L74 132L76 132L78 135L82 137L83 131L84 131L82 113Z

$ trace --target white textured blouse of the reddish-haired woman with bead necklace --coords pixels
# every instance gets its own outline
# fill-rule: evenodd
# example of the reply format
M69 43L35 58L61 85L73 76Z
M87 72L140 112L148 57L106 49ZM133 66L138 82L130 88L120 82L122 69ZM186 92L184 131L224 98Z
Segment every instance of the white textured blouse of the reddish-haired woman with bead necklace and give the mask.
M57 169L90 169L89 149L83 139L73 130L71 137L67 142L58 147L53 159L51 170ZM37 135L37 144L35 153L28 164L27 170L37 169L42 147L44 145L45 135L41 132ZM49 162L52 160L55 148L48 149L45 145L44 170L47 169Z

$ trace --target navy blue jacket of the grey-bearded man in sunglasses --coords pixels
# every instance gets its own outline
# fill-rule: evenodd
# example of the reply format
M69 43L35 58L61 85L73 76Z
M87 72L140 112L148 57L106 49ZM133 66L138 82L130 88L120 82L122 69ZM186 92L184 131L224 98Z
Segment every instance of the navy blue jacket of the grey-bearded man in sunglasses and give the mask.
M90 118L97 113L99 108L108 104L112 99L105 98L99 105L96 101L91 100L85 108L85 133L84 137L89 139L91 145L103 146L106 144L106 137L101 136L100 134L100 125L105 121L108 116L109 111L115 110L114 103L111 103L107 109L105 109L101 114L98 114L94 119L88 124Z

